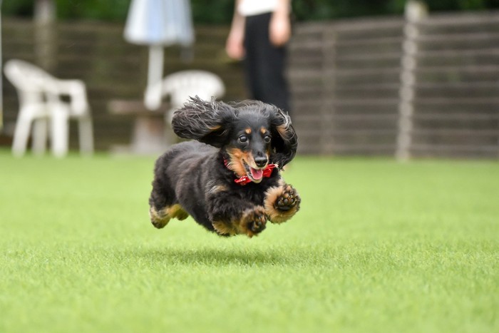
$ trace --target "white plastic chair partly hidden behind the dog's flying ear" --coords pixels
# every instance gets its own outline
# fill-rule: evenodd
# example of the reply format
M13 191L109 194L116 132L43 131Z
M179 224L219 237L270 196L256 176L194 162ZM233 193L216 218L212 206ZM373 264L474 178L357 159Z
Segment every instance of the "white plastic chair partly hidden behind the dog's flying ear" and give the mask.
M225 85L214 73L199 70L178 71L146 89L145 106L150 110L156 110L160 107L163 97L169 96L170 109L167 113L169 120L173 111L182 107L191 96L199 96L209 101L212 96L222 97L224 94Z

